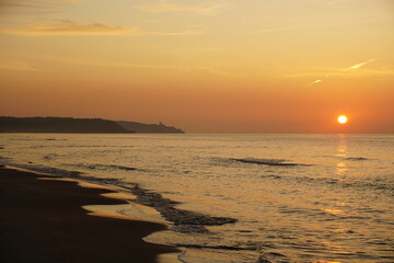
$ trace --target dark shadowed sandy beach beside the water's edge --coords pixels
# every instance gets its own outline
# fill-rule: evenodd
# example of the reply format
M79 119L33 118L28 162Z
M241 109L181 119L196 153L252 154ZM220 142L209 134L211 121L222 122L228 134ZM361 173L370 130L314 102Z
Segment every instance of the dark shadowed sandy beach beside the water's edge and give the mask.
M142 240L155 222L92 216L88 205L119 205L105 187L0 165L0 262L158 262L179 252Z

